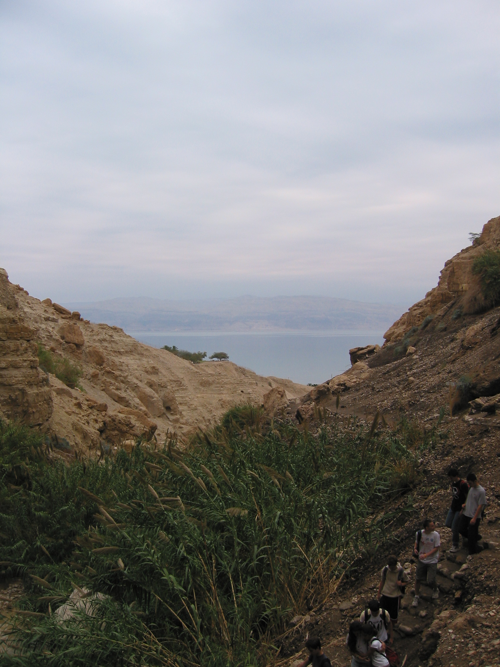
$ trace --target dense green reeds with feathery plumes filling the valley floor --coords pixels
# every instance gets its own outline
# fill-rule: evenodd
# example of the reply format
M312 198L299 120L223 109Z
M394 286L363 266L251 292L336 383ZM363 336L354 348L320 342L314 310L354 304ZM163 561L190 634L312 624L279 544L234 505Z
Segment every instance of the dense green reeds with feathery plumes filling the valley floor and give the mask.
M265 663L401 513L381 510L415 474L417 431L375 426L313 436L243 406L185 452L67 466L0 424L0 576L27 588L3 664ZM76 586L107 598L57 622Z

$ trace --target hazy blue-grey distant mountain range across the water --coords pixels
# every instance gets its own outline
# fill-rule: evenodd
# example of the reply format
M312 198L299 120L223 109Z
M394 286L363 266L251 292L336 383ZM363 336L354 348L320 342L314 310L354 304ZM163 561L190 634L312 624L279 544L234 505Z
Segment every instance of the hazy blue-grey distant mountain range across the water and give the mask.
M401 305L322 296L241 296L235 299L167 301L118 298L67 303L82 317L125 331L385 331Z

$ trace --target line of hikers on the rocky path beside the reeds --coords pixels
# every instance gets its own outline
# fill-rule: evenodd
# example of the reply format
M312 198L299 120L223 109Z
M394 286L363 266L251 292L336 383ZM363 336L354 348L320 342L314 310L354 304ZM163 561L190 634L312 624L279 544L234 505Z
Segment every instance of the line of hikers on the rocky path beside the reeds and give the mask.
M451 528L451 553L460 548L460 536L463 547L467 546L469 556L483 550L478 544L479 524L487 504L486 493L477 482L473 472L462 480L456 468L448 471L452 500L447 514L445 526ZM432 519L423 521L423 530L417 530L413 546L413 558L417 560L415 567L415 597L412 606L419 606L421 584L432 589L432 599L439 598L436 583L437 562L441 540L435 530ZM399 615L399 603L405 594L409 576L396 556L387 558L387 565L381 572L381 580L377 598L370 600L359 620L349 626L346 644L351 653L351 667L397 667L399 657L392 648L394 634ZM319 638L307 638L305 642L309 657L299 667L312 664L313 667L331 667L331 661L321 648Z

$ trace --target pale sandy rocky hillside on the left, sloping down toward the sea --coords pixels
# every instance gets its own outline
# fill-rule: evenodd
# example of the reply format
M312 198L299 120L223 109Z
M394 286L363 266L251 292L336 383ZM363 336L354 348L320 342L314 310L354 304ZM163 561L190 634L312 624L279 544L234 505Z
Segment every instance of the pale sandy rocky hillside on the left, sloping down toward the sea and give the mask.
M39 345L70 379L81 370L75 388L39 368ZM62 450L99 452L143 434L162 442L167 431L183 438L232 406L261 404L277 385L287 398L307 391L231 362L195 365L150 348L118 327L29 296L0 269L0 414L40 426Z

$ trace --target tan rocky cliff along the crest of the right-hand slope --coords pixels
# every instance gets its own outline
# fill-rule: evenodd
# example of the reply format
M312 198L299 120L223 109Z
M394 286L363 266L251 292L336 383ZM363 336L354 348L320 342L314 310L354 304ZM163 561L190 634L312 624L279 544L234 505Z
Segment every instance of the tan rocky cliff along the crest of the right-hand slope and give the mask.
M418 301L384 333L387 343L401 340L411 327L419 327L426 317L436 315L449 303L463 297L477 287L477 276L472 271L476 257L485 249L500 247L500 216L489 220L483 227L481 236L473 245L461 250L448 259L441 271L437 287L428 291L425 298Z

